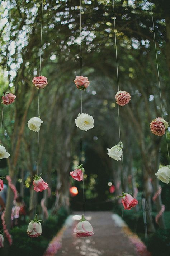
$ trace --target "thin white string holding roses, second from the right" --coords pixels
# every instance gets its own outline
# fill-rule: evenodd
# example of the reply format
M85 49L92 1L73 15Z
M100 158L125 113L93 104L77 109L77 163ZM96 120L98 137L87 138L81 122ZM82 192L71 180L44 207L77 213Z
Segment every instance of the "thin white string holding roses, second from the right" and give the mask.
M116 26L115 26L115 12L114 12L114 0L113 0L113 19L114 19L114 36L115 36L115 50L116 50L116 67L117 67L117 84L118 84L118 91L119 91L119 73L118 73L118 57L117 57L117 41L116 41ZM119 123L119 140L121 142L121 128L120 128L120 116L119 116L119 105L118 105L118 123ZM123 190L124 190L124 166L123 166L123 153L122 153L122 171L123 171ZM122 209L122 220L123 220L123 209ZM123 220L123 229L124 229L124 220ZM123 249L125 255L125 244L123 239Z

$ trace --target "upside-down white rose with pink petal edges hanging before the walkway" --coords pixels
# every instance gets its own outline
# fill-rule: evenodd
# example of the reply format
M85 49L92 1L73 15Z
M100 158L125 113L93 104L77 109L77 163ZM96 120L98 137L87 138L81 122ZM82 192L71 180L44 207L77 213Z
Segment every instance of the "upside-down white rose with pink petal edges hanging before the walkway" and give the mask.
M76 237L91 237L94 235L93 227L89 221L85 220L84 215L82 215L80 222L76 225L74 235L76 235Z

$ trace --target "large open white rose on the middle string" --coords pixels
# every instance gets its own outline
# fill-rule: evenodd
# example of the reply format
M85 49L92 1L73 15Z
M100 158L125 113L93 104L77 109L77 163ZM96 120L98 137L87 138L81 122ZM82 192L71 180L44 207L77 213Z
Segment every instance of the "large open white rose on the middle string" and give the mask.
M79 116L75 119L76 126L79 127L80 130L87 131L94 127L94 119L93 116L89 116L88 114L79 114Z

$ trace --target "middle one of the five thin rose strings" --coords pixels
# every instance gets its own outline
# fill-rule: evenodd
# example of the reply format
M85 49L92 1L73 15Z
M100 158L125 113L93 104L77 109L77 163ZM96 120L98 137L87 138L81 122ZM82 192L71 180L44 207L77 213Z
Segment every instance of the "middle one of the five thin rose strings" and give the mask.
M80 0L80 40L81 40L81 0ZM80 41L80 73L82 74L82 54L81 54L81 41ZM81 91L81 114L82 114L82 90ZM80 155L82 164L82 138L80 130ZM83 177L83 214L84 214L84 177Z

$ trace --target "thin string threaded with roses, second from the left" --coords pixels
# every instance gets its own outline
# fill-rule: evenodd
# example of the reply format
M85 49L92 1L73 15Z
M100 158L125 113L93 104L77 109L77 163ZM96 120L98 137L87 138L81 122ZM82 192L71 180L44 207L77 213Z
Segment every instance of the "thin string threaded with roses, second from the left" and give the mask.
M39 58L39 76L41 76L41 51L42 51L42 22L43 22L43 0L42 0L42 13L41 13L41 41L40 41L40 58ZM39 117L39 93L40 89L38 89L38 117ZM39 161L39 131L38 131L38 143L37 143L37 176L38 176L38 161ZM36 207L37 208L37 193L36 193Z

